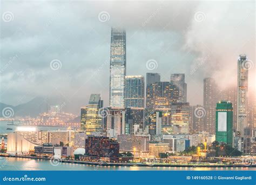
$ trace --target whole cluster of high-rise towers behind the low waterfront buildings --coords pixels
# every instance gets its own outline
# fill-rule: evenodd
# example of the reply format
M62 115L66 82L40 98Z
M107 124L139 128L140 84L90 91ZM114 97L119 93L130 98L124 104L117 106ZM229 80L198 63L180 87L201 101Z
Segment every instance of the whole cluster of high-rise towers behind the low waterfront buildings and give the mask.
M203 105L191 106L187 102L185 74L171 74L169 81L161 81L159 73L146 73L146 79L126 76L126 32L112 28L110 106L103 106L100 94L91 94L89 104L81 108L81 129L87 135L101 133L124 142L136 135L163 141L163 135L207 132L244 152L246 136L250 136L252 145L256 142L255 107L248 124L246 61L245 55L239 56L237 88L219 91L214 79L205 78Z

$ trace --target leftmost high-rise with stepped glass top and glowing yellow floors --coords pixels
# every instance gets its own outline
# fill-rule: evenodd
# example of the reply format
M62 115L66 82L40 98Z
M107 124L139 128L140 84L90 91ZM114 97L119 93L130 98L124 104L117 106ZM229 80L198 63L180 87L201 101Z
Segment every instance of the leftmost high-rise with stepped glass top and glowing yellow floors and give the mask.
M100 94L91 94L89 104L86 106L85 131L87 135L92 132L102 132L102 115L99 110L103 107Z

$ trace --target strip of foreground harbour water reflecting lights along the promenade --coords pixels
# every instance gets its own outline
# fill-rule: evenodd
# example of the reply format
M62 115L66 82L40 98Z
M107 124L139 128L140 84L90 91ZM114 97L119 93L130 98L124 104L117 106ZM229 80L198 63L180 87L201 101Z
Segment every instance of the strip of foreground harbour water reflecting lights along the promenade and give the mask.
M51 163L49 160L3 157L0 170L256 170L249 167L206 168L206 167L120 167L100 165L80 165L73 163Z

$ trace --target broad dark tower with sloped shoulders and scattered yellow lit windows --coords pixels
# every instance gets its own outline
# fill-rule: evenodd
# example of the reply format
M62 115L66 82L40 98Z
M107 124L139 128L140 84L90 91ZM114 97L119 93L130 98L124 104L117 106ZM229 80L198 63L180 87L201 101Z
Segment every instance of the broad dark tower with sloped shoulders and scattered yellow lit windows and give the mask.
M168 81L156 82L147 86L146 108L171 108L179 98L179 91L176 85Z

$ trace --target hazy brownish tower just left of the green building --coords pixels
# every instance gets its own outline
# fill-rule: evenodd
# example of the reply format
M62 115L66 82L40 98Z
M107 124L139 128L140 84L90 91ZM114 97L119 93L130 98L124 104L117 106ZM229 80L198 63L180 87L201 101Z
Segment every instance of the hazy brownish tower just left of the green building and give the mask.
M204 78L204 131L215 133L215 106L218 101L218 87L213 78Z

